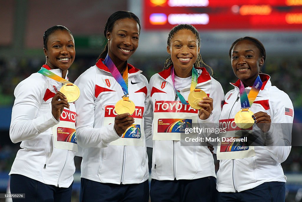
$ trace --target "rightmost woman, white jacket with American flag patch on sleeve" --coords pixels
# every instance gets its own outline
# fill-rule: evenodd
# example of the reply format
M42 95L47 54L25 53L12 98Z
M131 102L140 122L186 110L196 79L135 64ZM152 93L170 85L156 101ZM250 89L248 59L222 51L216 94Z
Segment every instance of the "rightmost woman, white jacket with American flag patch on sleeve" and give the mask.
M286 176L281 163L291 150L291 99L272 86L269 75L259 74L266 53L258 39L237 39L229 56L239 80L224 98L219 123L225 137L248 140L223 141L218 147L217 200L284 201Z

